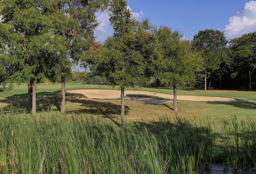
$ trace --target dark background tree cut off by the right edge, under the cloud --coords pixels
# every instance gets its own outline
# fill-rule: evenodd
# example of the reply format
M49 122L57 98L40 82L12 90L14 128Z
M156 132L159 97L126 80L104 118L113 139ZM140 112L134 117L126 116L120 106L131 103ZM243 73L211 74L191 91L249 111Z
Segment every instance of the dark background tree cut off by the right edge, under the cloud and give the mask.
M248 88L251 90L252 77L256 69L256 32L232 39L230 48L234 58L232 77L240 76L240 78L243 78L244 74L247 74Z

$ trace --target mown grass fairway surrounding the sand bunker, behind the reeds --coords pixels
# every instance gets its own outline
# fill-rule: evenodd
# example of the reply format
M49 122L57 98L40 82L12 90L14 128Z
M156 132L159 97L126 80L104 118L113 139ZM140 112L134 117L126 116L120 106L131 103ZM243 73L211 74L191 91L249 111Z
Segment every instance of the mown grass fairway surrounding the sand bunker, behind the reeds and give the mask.
M50 108L50 110L58 111L60 108L60 88L61 84L45 84L41 83L37 86L37 110ZM66 91L81 90L81 89L98 89L98 90L114 90L120 92L118 87L112 88L108 85L98 84L81 84L81 83L66 83ZM132 89L127 89L132 90ZM151 96L155 93L168 94L172 100L172 89L169 88L141 88L134 90L146 91ZM150 93L152 92L152 93ZM0 91L0 106L8 107L12 103L14 106L26 108L28 106L27 84L16 86L13 90L6 91L1 88ZM140 92L138 92L140 93ZM99 93L98 96L101 94ZM120 94L116 94L115 98L119 98ZM153 104L147 102L137 102L126 100L126 120L158 120L161 116L171 116L178 114L182 118L193 118L196 120L205 121L210 118L217 128L220 121L223 119L230 119L232 115L236 115L238 119L247 119L248 116L255 117L256 110L256 92L255 91L241 91L241 90L203 90L197 89L178 89L178 98L182 96L212 96L234 98L234 102L219 102L219 101L188 101L178 99L178 112L172 110L172 103ZM162 96L163 97L163 96ZM100 98L100 97L97 97ZM166 97L165 97L166 98ZM66 94L66 114L83 113L94 115L100 118L112 118L117 122L120 121L120 100L95 99L85 96L80 93Z

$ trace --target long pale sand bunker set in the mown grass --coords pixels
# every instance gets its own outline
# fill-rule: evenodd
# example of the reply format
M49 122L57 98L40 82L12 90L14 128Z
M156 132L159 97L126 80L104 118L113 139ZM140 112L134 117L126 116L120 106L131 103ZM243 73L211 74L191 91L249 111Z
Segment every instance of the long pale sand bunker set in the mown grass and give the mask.
M94 90L94 89L82 89L82 90L68 90L67 93L77 93L84 94L87 98L92 99L111 99L111 100L120 100L120 90ZM156 92L148 92L148 91L136 91L136 90L125 90L124 94L144 94L151 96L158 96L162 98L170 98L173 99L173 95L156 93ZM129 97L126 96L125 100L134 100L140 102L148 102L155 104L164 104L164 103L172 103L172 100L160 100L154 98L144 98L144 97ZM210 96L185 96L178 95L177 100L190 100L190 101L200 101L200 102L234 102L237 101L234 98L226 98L226 97L210 97Z

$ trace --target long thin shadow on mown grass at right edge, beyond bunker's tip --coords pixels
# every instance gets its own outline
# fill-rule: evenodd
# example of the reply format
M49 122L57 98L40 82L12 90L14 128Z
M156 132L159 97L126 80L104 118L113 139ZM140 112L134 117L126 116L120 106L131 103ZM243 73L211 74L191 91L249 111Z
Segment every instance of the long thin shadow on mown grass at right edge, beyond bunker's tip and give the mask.
M256 102L249 102L247 100L238 100L235 102L208 102L208 104L226 104L229 106L234 106L236 108L256 109Z

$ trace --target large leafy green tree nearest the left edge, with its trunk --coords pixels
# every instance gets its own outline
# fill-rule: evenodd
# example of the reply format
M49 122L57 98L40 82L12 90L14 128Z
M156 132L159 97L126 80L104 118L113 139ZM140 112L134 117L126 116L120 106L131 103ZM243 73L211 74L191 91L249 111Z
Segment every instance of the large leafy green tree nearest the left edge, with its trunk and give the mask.
M53 78L56 63L63 55L64 40L52 33L52 9L58 2L37 0L2 0L0 14L1 35L5 35L3 45L9 58L5 71L10 74L10 84L28 82L29 110L36 113L36 84L44 76ZM10 86L11 87L11 86Z

